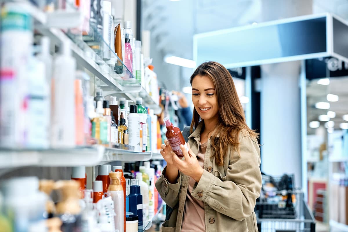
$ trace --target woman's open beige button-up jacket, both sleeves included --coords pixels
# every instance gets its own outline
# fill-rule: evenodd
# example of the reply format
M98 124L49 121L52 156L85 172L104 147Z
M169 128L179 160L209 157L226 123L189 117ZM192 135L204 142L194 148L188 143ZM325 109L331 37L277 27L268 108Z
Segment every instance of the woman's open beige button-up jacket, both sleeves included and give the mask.
M198 154L202 123L189 136L191 150ZM246 131L239 133L240 155L234 149L226 152L223 166L211 157L211 140L208 139L204 157L204 173L193 186L192 196L204 201L205 228L208 232L258 231L254 207L261 191L260 148ZM180 232L187 196L189 176L180 172L177 183L170 184L163 175L156 188L161 198L173 208L163 232ZM179 202L179 205L177 203Z

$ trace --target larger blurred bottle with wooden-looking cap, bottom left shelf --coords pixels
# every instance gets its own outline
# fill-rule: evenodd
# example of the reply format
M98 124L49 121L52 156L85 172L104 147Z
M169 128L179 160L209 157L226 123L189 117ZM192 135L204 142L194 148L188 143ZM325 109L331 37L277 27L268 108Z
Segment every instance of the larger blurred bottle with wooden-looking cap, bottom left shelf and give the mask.
M57 181L55 189L60 191L61 201L56 205L56 214L63 222L62 231L80 231L80 184L76 181Z

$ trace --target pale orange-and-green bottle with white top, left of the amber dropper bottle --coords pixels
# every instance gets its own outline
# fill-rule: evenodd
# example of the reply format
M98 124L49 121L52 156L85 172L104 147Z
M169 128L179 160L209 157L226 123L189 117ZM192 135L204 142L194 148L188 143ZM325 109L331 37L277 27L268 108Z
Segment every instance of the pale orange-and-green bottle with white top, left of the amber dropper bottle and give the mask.
M103 103L97 102L96 109L97 116L92 120L92 137L94 137L98 144L103 144L103 141L108 140L108 122L103 116Z

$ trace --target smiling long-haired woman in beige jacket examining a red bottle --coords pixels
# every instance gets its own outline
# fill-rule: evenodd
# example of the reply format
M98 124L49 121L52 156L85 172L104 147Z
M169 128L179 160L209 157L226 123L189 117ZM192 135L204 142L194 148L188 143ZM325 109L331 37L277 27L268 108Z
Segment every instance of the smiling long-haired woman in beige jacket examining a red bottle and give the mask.
M254 207L261 190L260 148L245 122L232 77L217 62L192 74L194 105L189 151L178 158L168 141L156 188L173 208L162 231L258 231ZM196 128L193 131L193 127Z

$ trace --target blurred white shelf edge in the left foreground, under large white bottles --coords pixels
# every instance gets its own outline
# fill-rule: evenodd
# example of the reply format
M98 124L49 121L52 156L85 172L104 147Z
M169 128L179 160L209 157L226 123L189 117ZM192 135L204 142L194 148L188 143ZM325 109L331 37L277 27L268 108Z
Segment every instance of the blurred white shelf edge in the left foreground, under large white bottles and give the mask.
M24 166L93 166L103 158L104 147L77 147L73 149L0 150L0 168Z

